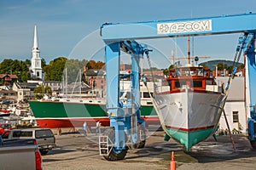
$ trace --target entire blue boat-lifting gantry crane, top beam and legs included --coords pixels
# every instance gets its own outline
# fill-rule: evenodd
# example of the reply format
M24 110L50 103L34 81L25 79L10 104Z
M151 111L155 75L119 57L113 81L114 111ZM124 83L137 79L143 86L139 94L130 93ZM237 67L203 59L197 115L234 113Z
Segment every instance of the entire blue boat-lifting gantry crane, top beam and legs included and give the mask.
M103 24L101 36L106 43L107 111L111 128L104 136L100 137L102 155L110 161L123 159L129 147L145 144L145 123L140 117L139 59L143 57L143 54L148 54L149 50L136 40L239 32L243 33L243 36L239 39L235 60L240 58L243 50L247 57L250 88L248 139L253 148L256 148L256 14L247 13L183 20ZM132 82L131 99L127 99L125 102L120 99L119 90L119 80L122 78L119 76L120 50L131 54L132 61L132 72L129 75ZM236 72L236 65L234 66L233 73Z

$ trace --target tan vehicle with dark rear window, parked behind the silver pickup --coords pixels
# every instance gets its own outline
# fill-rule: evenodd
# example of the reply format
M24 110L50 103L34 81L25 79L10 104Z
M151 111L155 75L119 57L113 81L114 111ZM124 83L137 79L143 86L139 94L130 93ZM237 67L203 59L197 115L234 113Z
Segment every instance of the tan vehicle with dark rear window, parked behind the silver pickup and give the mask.
M42 155L55 148L55 135L49 128L22 128L12 129L2 135L3 140L7 139L35 139Z

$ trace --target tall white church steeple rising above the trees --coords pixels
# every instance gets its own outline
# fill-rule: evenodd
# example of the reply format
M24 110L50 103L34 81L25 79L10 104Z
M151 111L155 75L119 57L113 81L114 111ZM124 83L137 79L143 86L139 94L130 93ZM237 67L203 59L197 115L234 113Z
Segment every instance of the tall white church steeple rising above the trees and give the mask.
M32 79L43 80L43 71L41 67L40 51L38 48L38 32L37 26L34 29L34 42L32 48L32 60L31 60L31 77Z

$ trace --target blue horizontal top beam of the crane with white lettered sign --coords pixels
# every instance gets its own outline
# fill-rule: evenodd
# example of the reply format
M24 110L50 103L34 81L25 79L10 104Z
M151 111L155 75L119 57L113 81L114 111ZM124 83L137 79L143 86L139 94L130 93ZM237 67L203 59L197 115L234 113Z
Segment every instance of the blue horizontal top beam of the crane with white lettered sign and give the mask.
M101 27L101 35L104 42L111 43L128 39L254 32L255 20L256 14L246 13L183 20L106 23Z

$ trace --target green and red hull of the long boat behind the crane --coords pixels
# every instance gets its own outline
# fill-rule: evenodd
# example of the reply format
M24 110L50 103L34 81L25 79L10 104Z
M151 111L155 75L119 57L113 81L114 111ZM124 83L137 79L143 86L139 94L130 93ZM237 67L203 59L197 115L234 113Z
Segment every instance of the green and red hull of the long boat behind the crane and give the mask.
M40 127L82 127L84 122L89 126L96 126L97 120L102 122L102 126L109 126L104 104L59 101L29 101L29 104ZM160 125L152 105L143 106L141 112L146 125Z

